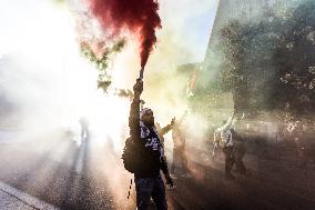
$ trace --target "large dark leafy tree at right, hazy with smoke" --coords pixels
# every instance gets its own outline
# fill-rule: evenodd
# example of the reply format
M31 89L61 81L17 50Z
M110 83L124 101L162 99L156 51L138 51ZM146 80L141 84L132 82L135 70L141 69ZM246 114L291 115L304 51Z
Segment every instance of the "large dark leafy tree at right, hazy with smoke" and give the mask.
M266 12L257 22L230 21L221 30L223 53L216 84L232 91L236 109L315 110L315 2Z

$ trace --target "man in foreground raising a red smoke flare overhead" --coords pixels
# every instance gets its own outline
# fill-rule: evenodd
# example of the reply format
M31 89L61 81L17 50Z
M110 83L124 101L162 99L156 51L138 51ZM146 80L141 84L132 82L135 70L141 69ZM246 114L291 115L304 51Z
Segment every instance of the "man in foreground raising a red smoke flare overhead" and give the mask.
M159 210L167 209L165 186L160 171L163 171L166 184L173 187L173 180L169 173L167 163L161 138L154 126L154 114L149 108L140 112L140 96L143 91L143 82L136 80L133 87L134 98L131 103L129 127L131 138L139 140L141 147L141 167L134 173L136 207L146 210L152 198Z

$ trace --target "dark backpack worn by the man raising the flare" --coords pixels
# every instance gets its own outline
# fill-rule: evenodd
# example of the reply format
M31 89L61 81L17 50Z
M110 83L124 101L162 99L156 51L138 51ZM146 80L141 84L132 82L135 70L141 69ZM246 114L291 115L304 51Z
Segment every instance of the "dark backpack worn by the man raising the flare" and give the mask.
M142 146L134 141L132 138L128 138L125 140L125 144L122 153L122 161L124 169L131 173L135 173L140 170L141 163L141 154L142 154Z

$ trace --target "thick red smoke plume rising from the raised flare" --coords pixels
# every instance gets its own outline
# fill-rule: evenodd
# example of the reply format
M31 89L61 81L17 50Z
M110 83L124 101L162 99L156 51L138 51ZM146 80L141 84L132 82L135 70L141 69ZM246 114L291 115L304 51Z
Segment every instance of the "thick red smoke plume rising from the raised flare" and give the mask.
M141 67L146 64L156 43L155 29L161 28L156 0L88 0L92 13L111 37L124 29L136 34L141 43Z

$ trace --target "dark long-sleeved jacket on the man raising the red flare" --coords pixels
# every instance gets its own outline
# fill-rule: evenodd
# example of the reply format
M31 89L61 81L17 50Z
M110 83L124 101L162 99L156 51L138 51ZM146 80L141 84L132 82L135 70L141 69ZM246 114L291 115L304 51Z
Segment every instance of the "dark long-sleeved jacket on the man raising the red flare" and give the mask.
M140 100L133 99L129 117L130 136L139 143L140 167L134 173L138 178L151 178L167 173L167 163L163 158L163 147L155 128L146 128L140 121ZM144 133L145 132L145 133Z

